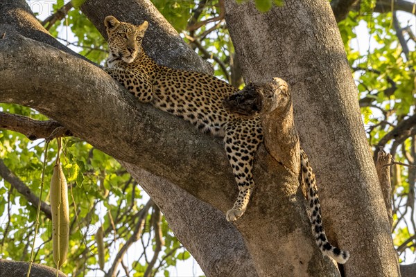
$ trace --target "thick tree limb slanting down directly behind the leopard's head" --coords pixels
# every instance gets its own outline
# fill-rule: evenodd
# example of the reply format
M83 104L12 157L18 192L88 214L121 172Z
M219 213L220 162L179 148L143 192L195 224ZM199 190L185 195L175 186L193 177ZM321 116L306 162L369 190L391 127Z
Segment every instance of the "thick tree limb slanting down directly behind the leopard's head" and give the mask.
M148 0L106 1L87 0L80 10L107 37L104 18L107 15L127 21L132 24L149 22L149 28L143 40L146 53L157 64L163 64L175 69L212 73L211 64L201 60L198 55L184 42L177 31L166 21L163 15Z

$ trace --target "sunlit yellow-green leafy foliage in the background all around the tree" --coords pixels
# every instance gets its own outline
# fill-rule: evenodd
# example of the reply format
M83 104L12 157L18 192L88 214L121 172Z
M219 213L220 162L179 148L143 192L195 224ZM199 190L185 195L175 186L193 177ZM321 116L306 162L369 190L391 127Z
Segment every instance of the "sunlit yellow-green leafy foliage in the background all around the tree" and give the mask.
M245 0L240 0L243 2ZM345 50L358 87L364 126L373 150L383 137L395 129L399 123L415 114L415 51L408 57L402 53L397 39L391 12L374 14L374 1L363 1L361 10L350 12L347 19L338 26L345 44ZM68 26L73 38L62 39L64 44L76 46L81 55L103 64L107 44L98 30L78 10L83 1L72 1L74 9L67 17L57 21L50 29L55 37L65 35ZM225 22L220 18L220 3L212 1L153 0L175 29L183 35L203 58L214 64L215 75L239 87L243 84L241 73L234 57ZM261 12L272 6L283 5L283 1L256 0ZM57 1L53 6L56 12L64 5ZM207 19L216 18L209 21ZM207 21L190 30L197 22ZM363 32L363 29L365 30ZM360 31L357 31L360 30ZM367 35L366 35L367 34ZM364 36L364 39L363 39ZM410 35L406 37L412 44ZM359 48L359 43L367 40L367 47ZM230 74L231 72L231 74ZM1 111L21 114L38 120L47 118L37 111L18 105L0 105ZM395 161L415 164L415 134L399 143L389 141L382 145L392 152ZM26 136L7 130L0 132L0 158L35 195L40 195L40 173L44 141L28 141ZM48 203L49 181L57 145L52 142L48 152L44 202ZM144 276L155 252L157 235L161 231L164 244L157 253L158 263L151 268L153 274L159 272L169 276L169 269L180 260L190 258L168 225L164 217L154 222L157 208L146 208L148 197L138 184L120 165L103 152L96 150L75 138L64 139L63 168L69 184L69 204L71 211L71 238L69 242L69 262L62 271L72 276L86 276L90 271L99 272L95 233L103 225L105 242L105 270L110 269L116 253L135 231L140 222L141 212L145 211L142 234L135 245L140 251L128 252L130 274ZM415 235L414 168L392 166L392 199L394 211L394 240L401 253L415 253L415 243L409 238ZM28 260L35 228L35 208L20 195L12 184L0 181L0 256L15 260ZM51 221L41 217L40 235L36 238L35 262L54 266L51 249ZM158 226L158 227L157 227ZM407 249L407 250L406 250ZM149 269L150 270L150 269Z

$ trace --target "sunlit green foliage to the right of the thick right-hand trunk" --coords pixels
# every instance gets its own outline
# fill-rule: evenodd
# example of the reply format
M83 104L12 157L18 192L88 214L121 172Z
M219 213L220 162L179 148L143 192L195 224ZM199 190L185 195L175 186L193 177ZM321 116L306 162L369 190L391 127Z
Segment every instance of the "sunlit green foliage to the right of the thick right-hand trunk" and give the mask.
M410 33L404 34L406 46L413 48L406 57L403 52L406 46L398 39L402 30L395 27L393 13L374 13L374 3L363 1L361 10L349 12L347 19L338 26L358 87L358 98L370 145L374 152L382 146L392 154L395 161L410 164L391 168L395 219L393 236L401 254L400 258L405 260L406 253L415 253L414 241L412 243L407 240L415 235L416 230L416 137L415 134L403 134L404 138L399 139L397 136L401 135L397 135L395 141L387 143L383 138L415 114L415 41L411 39ZM399 18L398 15L395 16ZM399 21L399 24L410 22ZM406 30L406 26L400 28ZM368 43L365 48L360 45L363 42Z

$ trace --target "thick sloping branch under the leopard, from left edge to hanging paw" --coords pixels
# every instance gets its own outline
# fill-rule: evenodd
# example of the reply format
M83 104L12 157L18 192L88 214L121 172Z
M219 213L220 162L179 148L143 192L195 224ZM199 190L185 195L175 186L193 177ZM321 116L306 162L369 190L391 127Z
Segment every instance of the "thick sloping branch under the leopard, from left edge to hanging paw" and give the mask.
M101 69L46 44L10 35L0 40L0 53L1 102L33 107L116 159L166 177L208 202L216 199L224 211L232 206L227 204L231 200L227 191L234 188L234 177L231 170L222 170L229 165L220 139L200 134L180 118L137 102ZM196 162L195 153L205 162ZM207 167L207 162L213 166ZM213 183L210 176L227 180L229 188L216 183L214 187L223 193L214 196L214 187L201 189L200 176L194 172Z

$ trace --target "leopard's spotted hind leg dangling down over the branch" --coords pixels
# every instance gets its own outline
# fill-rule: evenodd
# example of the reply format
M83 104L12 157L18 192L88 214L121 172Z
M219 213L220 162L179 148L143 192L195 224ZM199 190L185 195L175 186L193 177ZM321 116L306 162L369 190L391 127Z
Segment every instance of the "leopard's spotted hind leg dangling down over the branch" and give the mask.
M254 154L262 141L262 130L257 118L232 120L225 128L225 151L239 186L239 196L233 208L227 212L229 222L241 217L250 201L254 186Z

